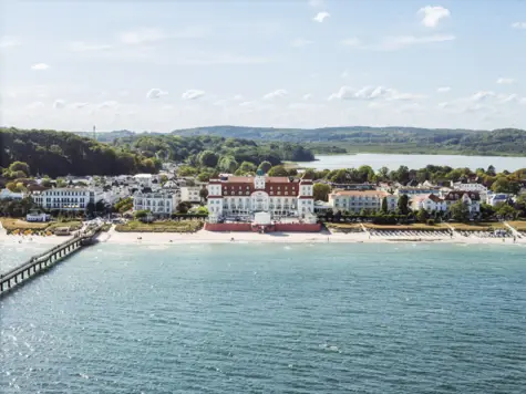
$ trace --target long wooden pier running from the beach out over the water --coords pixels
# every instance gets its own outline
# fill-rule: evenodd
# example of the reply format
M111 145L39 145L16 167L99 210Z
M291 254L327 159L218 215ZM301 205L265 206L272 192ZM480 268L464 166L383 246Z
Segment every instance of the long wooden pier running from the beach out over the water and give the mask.
M0 298L11 290L19 288L30 279L45 272L58 262L71 256L79 249L91 245L102 226L87 228L83 232L76 234L72 239L58 245L43 253L33 256L29 261L0 274Z

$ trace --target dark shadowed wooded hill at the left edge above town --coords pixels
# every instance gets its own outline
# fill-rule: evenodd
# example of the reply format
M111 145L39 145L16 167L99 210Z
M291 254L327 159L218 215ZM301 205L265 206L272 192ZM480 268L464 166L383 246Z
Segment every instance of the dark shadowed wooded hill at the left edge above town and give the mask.
M73 133L0 128L0 166L24 162L29 175L118 175L156 173L161 162Z

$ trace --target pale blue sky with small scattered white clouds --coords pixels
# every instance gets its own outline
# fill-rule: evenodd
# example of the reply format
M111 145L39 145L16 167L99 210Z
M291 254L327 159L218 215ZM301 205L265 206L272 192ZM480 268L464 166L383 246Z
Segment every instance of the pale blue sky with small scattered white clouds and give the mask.
M0 124L526 128L526 1L19 1Z

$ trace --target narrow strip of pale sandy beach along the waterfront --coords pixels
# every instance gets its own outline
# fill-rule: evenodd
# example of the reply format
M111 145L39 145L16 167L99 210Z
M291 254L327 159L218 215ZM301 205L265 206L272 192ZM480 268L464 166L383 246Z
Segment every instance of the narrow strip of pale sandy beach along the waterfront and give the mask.
M199 230L194 234L176 232L117 232L113 228L99 236L100 242L166 245L166 243L395 243L395 242L433 242L433 243L495 243L513 245L512 238L479 238L454 236L414 236L381 237L367 232L212 232ZM526 239L516 239L515 243L526 245Z

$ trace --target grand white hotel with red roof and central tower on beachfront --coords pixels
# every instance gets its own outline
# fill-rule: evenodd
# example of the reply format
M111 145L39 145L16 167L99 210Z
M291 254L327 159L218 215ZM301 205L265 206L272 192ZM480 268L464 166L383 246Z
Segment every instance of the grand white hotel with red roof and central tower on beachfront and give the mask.
M207 188L210 220L233 216L248 219L256 212L268 212L274 219L306 217L314 210L312 179L269 177L258 172L255 177L210 179Z

